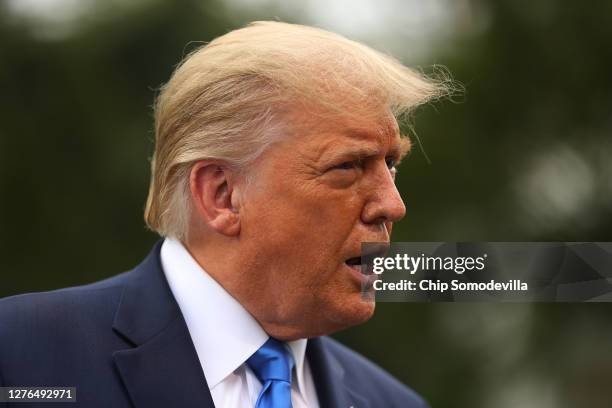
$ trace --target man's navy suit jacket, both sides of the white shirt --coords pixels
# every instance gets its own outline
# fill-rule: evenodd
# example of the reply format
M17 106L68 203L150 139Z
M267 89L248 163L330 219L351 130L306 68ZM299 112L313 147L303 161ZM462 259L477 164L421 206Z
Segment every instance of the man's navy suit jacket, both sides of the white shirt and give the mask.
M40 403L45 408L214 407L160 246L110 279L0 300L0 386L77 388L76 404ZM321 408L427 406L328 337L309 339L306 358Z

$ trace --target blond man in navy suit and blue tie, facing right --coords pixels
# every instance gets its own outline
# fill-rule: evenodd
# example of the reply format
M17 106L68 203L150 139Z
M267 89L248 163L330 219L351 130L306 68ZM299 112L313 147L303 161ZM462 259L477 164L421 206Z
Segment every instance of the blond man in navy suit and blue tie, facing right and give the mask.
M443 86L323 30L258 22L192 53L156 105L134 270L0 302L0 385L85 407L424 407L325 335L367 321L362 242L388 242L396 117Z

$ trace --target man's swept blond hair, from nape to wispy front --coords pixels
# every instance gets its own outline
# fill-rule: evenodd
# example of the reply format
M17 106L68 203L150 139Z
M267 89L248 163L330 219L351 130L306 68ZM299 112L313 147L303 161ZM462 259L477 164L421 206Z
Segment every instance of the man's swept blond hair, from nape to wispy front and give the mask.
M193 163L243 171L279 137L296 103L330 114L384 104L397 117L447 92L444 80L321 29L258 21L231 31L188 55L161 89L145 221L183 239Z

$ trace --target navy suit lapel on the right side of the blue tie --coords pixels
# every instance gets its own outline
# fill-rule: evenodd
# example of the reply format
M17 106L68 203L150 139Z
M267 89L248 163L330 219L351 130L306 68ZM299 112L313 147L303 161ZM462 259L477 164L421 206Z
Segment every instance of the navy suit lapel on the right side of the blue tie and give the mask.
M308 340L306 357L310 364L321 408L368 408L368 400L345 381L344 368L326 349L320 338Z

